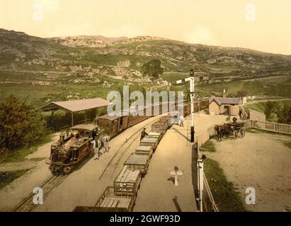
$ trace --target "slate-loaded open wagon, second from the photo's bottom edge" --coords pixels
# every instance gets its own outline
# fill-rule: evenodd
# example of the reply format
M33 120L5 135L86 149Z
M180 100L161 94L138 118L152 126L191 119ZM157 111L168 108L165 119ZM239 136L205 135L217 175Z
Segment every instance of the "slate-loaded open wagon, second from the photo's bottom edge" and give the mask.
M130 169L127 165L114 181L115 196L135 196L142 180L139 169Z

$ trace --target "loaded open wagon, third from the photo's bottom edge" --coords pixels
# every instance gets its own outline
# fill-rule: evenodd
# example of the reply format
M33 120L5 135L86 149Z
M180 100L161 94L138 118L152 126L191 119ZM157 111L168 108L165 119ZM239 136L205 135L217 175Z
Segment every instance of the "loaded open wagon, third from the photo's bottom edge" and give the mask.
M149 155L140 155L132 153L125 161L125 165L132 170L140 170L142 175L147 174L149 169L150 157Z

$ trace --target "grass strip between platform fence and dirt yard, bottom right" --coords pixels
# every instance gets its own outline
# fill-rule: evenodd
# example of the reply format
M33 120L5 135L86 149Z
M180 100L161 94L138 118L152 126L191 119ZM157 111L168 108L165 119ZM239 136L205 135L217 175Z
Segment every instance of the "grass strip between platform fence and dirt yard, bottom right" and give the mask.
M205 160L204 172L212 191L213 198L221 212L246 212L241 196L234 184L227 181L223 169L212 159Z

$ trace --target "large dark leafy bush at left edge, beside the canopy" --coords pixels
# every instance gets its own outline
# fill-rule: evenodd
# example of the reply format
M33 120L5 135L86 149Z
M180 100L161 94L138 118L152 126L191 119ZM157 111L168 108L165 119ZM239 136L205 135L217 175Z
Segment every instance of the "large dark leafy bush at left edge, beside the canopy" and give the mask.
M13 95L0 103L0 149L29 146L48 132L41 112Z

